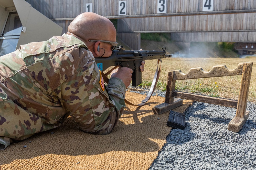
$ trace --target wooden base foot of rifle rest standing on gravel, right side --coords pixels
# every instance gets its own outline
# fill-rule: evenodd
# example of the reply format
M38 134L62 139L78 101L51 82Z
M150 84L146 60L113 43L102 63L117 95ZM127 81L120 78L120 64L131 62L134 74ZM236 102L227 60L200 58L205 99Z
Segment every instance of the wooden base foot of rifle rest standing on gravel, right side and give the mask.
M245 112L244 118L234 117L228 124L228 130L232 132L239 132L239 130L243 127L244 123L247 121L250 115L250 111Z

